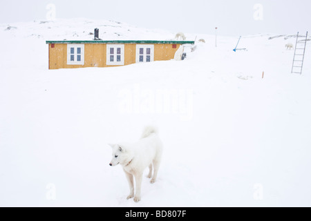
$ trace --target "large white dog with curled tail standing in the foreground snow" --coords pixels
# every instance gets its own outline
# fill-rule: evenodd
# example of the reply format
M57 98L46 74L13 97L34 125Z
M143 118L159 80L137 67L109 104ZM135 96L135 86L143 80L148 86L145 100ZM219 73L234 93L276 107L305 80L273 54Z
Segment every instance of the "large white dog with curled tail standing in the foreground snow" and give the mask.
M113 149L113 158L110 166L120 164L129 182L130 194L126 199L134 197L134 201L140 201L140 188L142 186L142 173L149 166L149 175L153 177L151 184L156 182L160 160L162 155L162 142L158 136L158 131L153 126L144 128L142 137L134 144L109 144ZM134 196L134 180L135 177L135 196Z

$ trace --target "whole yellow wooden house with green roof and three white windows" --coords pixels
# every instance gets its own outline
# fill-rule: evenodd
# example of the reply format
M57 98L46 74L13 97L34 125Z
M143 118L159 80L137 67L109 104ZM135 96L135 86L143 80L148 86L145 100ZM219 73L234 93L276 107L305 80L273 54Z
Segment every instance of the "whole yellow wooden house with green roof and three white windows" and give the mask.
M194 41L46 41L48 68L124 66L174 58L178 48Z

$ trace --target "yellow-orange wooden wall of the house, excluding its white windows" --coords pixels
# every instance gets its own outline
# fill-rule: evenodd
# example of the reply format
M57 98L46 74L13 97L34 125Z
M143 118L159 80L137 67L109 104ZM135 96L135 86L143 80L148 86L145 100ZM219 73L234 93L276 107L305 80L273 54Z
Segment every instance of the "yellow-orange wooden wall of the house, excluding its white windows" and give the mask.
M174 58L180 44L154 44L154 61L165 61ZM67 64L67 44L48 45L49 69L109 67L106 65L106 44L84 44L84 65ZM124 65L136 63L136 44L124 44Z

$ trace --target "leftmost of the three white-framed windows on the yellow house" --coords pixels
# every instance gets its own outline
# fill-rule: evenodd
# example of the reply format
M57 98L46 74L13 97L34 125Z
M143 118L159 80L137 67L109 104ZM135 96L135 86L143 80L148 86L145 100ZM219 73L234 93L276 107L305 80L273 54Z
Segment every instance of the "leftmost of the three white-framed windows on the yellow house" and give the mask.
M67 64L84 65L84 44L67 44Z

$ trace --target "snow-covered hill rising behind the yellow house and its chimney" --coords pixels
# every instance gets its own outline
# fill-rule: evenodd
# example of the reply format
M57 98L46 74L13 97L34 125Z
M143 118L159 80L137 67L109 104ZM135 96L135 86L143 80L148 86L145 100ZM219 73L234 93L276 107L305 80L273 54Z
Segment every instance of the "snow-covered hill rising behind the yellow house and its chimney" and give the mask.
M91 40L94 38L94 28L100 29L100 38L102 39L164 40L173 36L172 33L164 30L149 30L119 21L91 19L57 19L56 21L1 24L0 28L11 32L15 37L53 40Z

